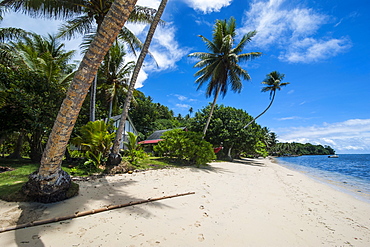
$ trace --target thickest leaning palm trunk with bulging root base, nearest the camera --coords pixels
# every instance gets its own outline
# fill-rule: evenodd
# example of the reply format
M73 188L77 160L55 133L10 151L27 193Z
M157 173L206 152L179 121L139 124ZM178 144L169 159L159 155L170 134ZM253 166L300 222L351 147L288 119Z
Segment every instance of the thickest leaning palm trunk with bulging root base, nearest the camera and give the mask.
M116 0L82 59L54 122L38 171L29 176L23 192L33 200L55 202L67 198L71 178L61 169L62 159L91 83L105 54L116 39L137 0Z

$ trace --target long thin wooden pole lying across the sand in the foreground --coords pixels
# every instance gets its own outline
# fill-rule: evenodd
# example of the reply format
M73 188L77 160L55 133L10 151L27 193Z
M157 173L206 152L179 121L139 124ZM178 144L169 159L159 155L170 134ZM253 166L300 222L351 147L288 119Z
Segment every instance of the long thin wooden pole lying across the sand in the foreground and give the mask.
M90 214L96 214L96 213L112 210L112 209L129 207L129 206L134 206L134 205L138 205L138 204L154 202L154 201L169 199L169 198L173 198L173 197L192 195L192 194L195 194L195 192L187 192L187 193L183 193L183 194L163 196L163 197L158 197L158 198L148 198L146 200L141 200L141 201L136 201L136 202L129 202L129 203L119 204L119 205L109 205L109 206L99 208L99 209L92 209L92 210L83 211L83 212L75 212L74 214L67 215L67 216L56 217L56 218L51 218L51 219L46 219L46 220L38 220L38 221L33 221L33 222L20 224L20 225L16 225L16 226L5 227L5 228L3 227L3 228L0 228L0 233L13 231L13 230L21 229L21 228L26 228L26 227L39 226L39 225L59 222L59 221L63 221L63 220L69 220L69 219L73 219L73 218L77 218L77 217L82 217L82 216L86 216L86 215L90 215Z

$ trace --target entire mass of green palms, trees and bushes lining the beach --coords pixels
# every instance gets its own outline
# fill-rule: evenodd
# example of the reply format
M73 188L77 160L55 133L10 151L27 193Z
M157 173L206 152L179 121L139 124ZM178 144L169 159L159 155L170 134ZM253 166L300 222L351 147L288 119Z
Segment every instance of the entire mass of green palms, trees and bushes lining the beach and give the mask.
M40 202L63 200L70 196L69 174L102 172L100 168L107 165L112 147L113 154L125 156L124 162L131 170L165 167L172 162L203 165L216 159L215 149L219 151L217 158L231 160L269 154L334 152L329 146L278 143L275 133L255 122L270 108L276 91L289 84L282 82L284 75L279 72L271 72L263 82L266 87L262 92L270 92L271 102L256 118L242 109L216 104L219 95L225 96L229 89L240 92L242 81L250 79L241 62L261 55L243 53L256 32L245 34L237 43L234 18L216 21L212 41L200 36L209 52L189 55L200 60L194 66L199 68L195 82L198 89L206 85L206 96L214 96L212 104L197 112L191 107L189 114L175 116L167 106L135 90L138 72L166 3L162 0L158 11L135 6L135 0L0 3L35 16L65 19L60 36L83 33L89 41L76 70L71 63L74 51L66 51L59 37L43 37L15 28L0 29L0 152L3 157L27 157L32 161L31 166L24 164L23 159L16 161L24 169L9 173L14 177L19 175L20 183L14 188L22 187L26 195ZM126 21L151 23L144 45L129 34L124 27ZM94 23L98 24L97 32ZM126 43L120 43L117 37ZM136 65L125 60L128 47L133 51L142 48ZM116 134L107 120L88 122L91 114L85 98L94 78L98 83L96 103L93 103L97 118L109 119L121 114L121 123L125 123L130 114L139 132L138 135L128 133L125 151L119 150L118 145L122 129ZM248 128L243 128L246 123ZM189 131L178 127L187 127ZM162 159L149 158L138 141L159 129L175 130L165 132L164 141L154 147ZM113 145L115 136L119 138ZM0 184L0 194L2 188L5 187Z

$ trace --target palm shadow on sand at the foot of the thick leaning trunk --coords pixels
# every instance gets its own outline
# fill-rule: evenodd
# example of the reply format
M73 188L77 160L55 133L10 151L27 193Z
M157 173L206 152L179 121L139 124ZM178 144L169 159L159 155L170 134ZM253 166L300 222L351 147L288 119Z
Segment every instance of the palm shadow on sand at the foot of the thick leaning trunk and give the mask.
M34 202L22 202L19 204L19 209L22 210L16 224L25 224L33 221L63 217L73 215L76 212L84 212L92 209L104 208L111 205L121 205L130 202L147 200L148 198L138 198L129 195L124 188L137 183L131 178L123 178L109 182L106 177L93 179L90 181L77 182L80 185L80 192L77 196L65 201L43 204ZM67 206L68 205L68 206ZM168 207L158 201L148 203L153 207ZM127 210L130 213L140 215L147 218L151 213L143 207L128 206L115 210ZM97 214L87 215L83 217L96 217ZM82 217L82 218L83 218ZM78 221L81 218L74 218L73 221ZM42 238L48 234L48 231L59 228L61 224L68 225L71 220L65 220L40 226L28 227L14 231L14 241L18 246L45 246ZM63 231L65 226L63 226Z

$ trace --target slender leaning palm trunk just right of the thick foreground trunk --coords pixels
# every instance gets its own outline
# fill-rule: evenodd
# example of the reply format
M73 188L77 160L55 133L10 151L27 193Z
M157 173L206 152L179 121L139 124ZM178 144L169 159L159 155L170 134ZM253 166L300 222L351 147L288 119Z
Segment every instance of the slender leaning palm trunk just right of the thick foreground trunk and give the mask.
M148 53L150 43L151 43L152 38L154 36L154 32L155 32L155 30L158 26L158 23L161 19L161 16L162 16L162 13L163 13L163 11L166 7L166 4L167 4L167 0L162 0L161 4L158 7L158 11L154 16L152 24L150 25L148 35L147 35L147 37L145 39L145 42L144 42L143 49L140 52L139 58L138 58L138 60L136 62L136 65L135 65L135 69L132 73L130 85L129 85L128 92L127 92L127 97L125 99L125 104L123 106L123 112L122 112L122 115L121 115L121 119L120 119L120 122L119 122L117 132L116 132L116 138L115 138L114 143L113 143L112 153L110 155L110 162L109 163L112 164L112 165L116 165L118 160L120 161L119 148L120 148L120 145L121 145L121 142L122 142L124 126L125 126L125 123L126 123L126 119L127 119L127 115L128 115L128 109L130 107L132 95L133 95L133 92L134 92L135 83L136 83L137 77L139 75L140 69L141 69L141 67L144 63L144 59L145 59L145 57Z

